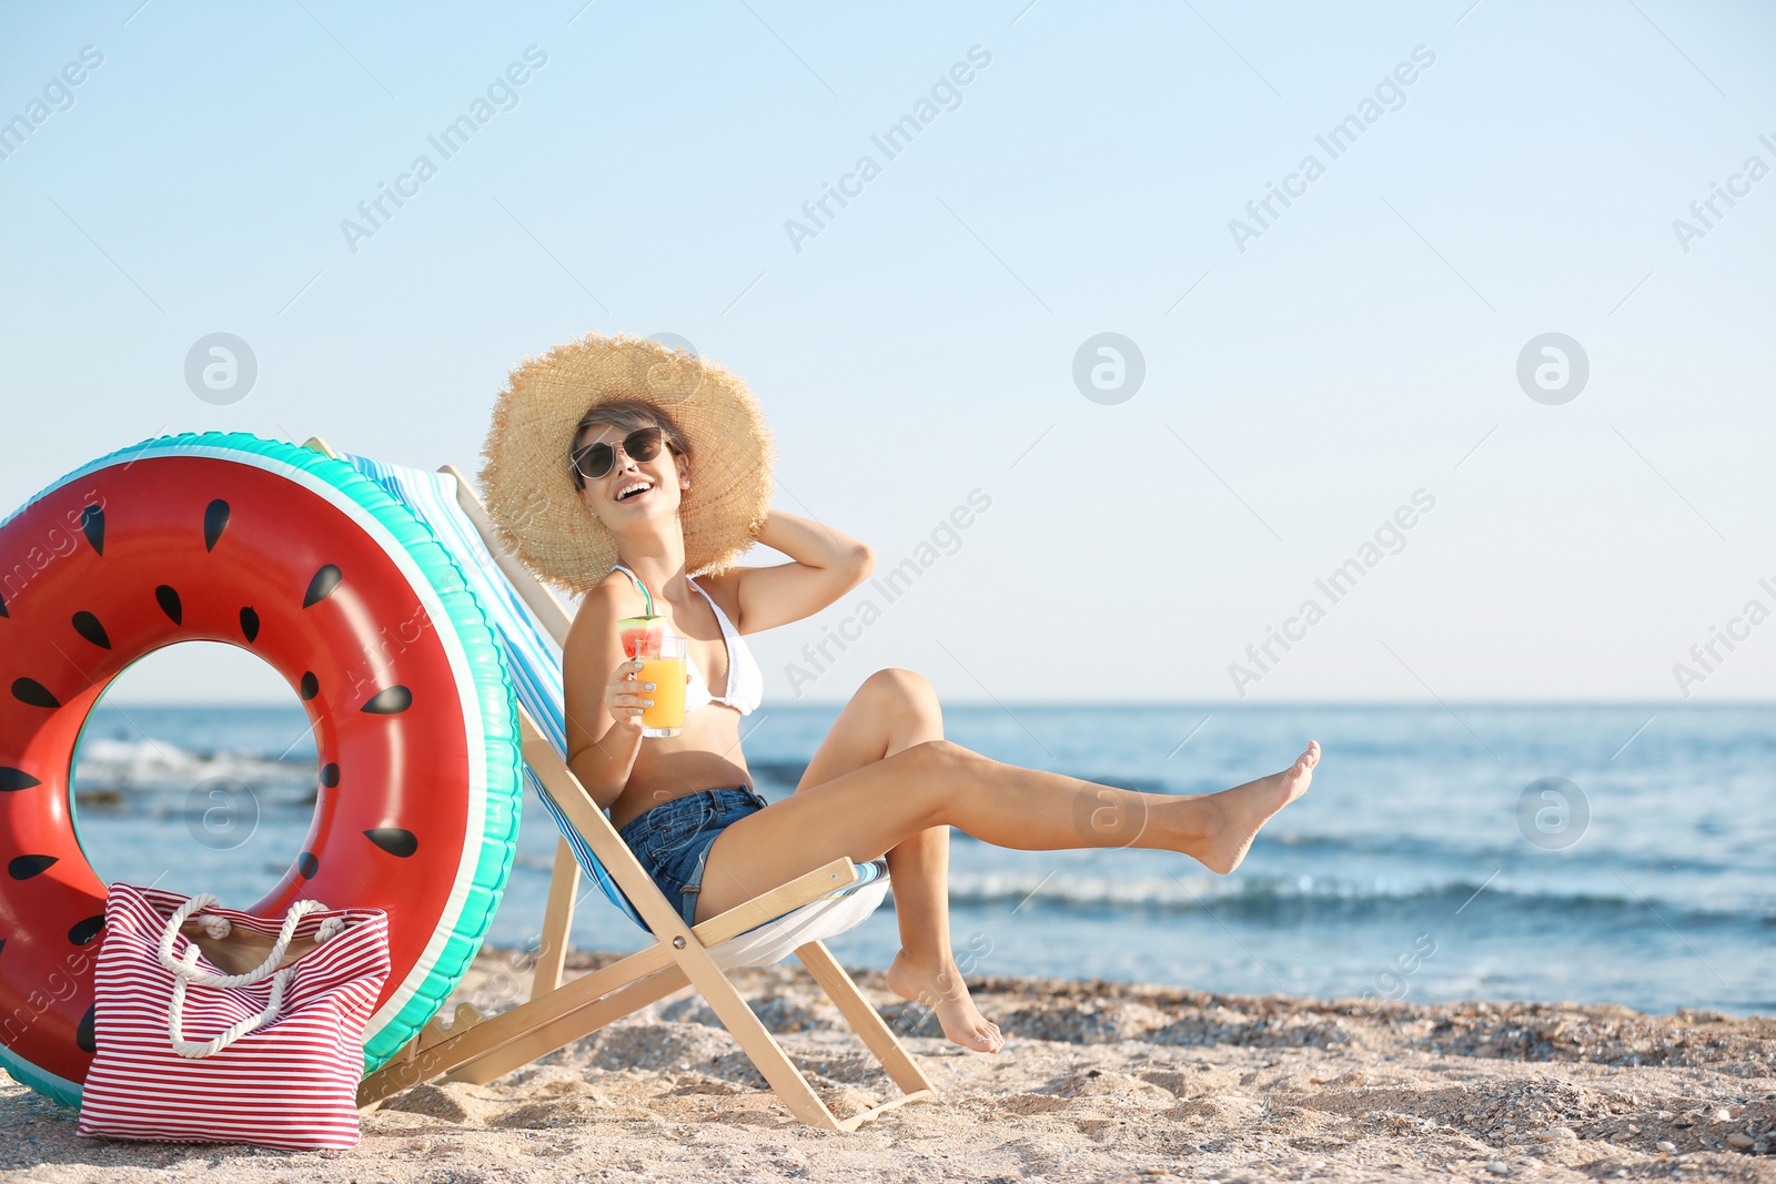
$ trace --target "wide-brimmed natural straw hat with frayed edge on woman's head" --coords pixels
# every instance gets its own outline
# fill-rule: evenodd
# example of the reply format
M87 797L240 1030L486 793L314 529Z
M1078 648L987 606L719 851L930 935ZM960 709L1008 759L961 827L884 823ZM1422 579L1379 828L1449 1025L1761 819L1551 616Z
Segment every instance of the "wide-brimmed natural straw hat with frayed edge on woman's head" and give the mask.
M574 428L599 403L639 398L691 444L682 492L687 575L723 572L771 513L776 446L732 371L648 337L586 334L527 357L494 401L481 499L506 547L542 579L590 591L616 563L616 536L586 509L568 469Z

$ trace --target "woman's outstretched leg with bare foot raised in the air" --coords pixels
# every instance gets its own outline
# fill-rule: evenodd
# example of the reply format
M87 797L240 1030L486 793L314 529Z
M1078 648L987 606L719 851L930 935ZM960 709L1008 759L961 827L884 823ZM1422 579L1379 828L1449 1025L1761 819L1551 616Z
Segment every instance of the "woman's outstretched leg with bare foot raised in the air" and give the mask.
M1282 772L1220 793L1138 793L1021 769L925 740L741 818L709 852L698 918L710 918L840 856L876 859L936 825L1014 850L1144 847L1233 872L1279 809L1307 792L1320 744Z

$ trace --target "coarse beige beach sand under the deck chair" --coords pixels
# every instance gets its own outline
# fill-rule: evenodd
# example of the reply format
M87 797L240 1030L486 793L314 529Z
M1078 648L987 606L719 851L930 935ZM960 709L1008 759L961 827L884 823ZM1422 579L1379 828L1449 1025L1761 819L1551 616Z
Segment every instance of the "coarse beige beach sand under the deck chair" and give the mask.
M483 951L458 994L487 998L515 957ZM794 1122L682 992L494 1085L410 1090L350 1152L78 1140L0 1074L0 1180L1776 1184L1776 1019L986 976L1009 1038L982 1056L854 973L943 1092L854 1134ZM836 1113L893 1095L794 962L735 980Z

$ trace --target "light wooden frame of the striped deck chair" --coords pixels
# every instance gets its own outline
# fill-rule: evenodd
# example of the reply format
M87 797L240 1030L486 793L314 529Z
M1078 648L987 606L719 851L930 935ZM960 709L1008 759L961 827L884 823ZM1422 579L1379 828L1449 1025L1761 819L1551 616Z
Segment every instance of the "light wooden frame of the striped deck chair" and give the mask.
M329 456L334 454L318 438L311 438L307 446ZM563 644L568 628L567 611L529 570L501 547L492 520L467 478L451 465L444 465L440 472L456 478L458 504L481 534L488 554L494 556L499 570L556 643ZM446 1081L487 1085L687 985L703 996L764 1079L776 1090L783 1106L808 1125L826 1131L856 1131L858 1125L886 1109L938 1095L938 1088L925 1076L918 1058L900 1044L826 944L810 941L796 950L796 957L883 1065L888 1077L900 1088L900 1097L890 1102L851 1118L836 1118L709 955L710 946L728 937L744 934L755 925L856 882L858 872L851 859L835 859L689 927L522 705L519 705L519 717L526 763L591 847L611 879L636 905L654 934L654 944L583 978L561 982L568 930L574 923L574 900L581 880L574 850L561 838L556 843L554 872L549 879L549 904L543 911L542 948L536 955L531 999L490 1019L481 1019L472 1006L462 1005L449 1028L442 1028L433 1019L407 1047L364 1077L357 1093L364 1111L373 1111L396 1093L439 1076Z

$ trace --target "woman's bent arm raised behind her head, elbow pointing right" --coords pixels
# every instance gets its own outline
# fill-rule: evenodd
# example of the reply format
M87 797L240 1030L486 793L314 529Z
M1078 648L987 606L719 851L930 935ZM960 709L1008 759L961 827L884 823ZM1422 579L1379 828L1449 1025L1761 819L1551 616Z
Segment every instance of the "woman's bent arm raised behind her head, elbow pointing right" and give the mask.
M757 540L794 563L730 568L718 579L733 586L741 616L733 627L757 634L813 616L876 570L876 552L829 525L773 509Z

